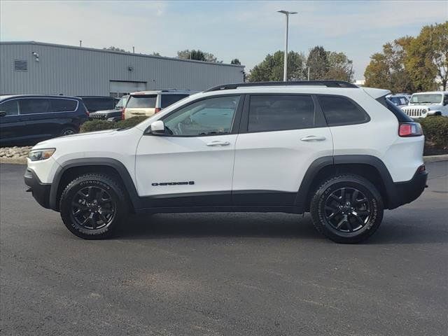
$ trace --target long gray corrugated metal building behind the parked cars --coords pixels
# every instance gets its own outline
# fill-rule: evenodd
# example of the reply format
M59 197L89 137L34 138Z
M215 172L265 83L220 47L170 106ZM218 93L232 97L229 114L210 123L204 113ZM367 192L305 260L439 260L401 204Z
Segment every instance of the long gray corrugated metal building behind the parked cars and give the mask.
M205 90L244 80L244 66L39 42L0 43L0 94L120 96Z

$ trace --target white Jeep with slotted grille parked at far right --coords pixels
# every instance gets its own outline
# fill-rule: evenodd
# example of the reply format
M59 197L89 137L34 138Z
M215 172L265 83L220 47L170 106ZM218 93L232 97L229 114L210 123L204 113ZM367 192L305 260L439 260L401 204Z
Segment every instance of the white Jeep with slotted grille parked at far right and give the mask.
M402 110L412 118L448 116L448 91L414 93Z

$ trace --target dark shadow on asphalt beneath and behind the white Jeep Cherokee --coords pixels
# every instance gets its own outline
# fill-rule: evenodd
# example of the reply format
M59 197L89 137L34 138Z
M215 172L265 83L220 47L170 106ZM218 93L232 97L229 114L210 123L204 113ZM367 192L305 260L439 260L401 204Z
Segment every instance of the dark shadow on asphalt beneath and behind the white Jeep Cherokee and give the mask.
M309 215L288 214L156 214L132 216L120 232L122 239L169 239L200 237L266 237L282 239L325 239L316 231ZM440 230L437 230L440 228ZM364 244L447 243L442 225L388 218Z

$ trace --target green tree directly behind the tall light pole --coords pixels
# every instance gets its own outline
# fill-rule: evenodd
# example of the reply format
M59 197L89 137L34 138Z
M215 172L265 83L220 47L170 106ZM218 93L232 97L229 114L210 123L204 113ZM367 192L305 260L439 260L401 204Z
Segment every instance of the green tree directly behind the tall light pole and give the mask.
M283 51L276 51L274 55L266 55L260 64L251 70L248 76L250 82L268 82L283 80ZM288 80L302 80L305 57L302 53L288 52Z

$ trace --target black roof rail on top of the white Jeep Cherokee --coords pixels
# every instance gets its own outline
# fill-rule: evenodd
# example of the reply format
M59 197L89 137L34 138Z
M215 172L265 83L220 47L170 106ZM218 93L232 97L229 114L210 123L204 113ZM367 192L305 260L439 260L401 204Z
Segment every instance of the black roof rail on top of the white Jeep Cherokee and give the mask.
M223 84L209 88L204 92L219 91L219 90L232 90L237 87L251 87L251 86L326 86L326 87L353 87L358 86L344 82L343 80L293 80L290 82L249 82L249 83L236 83L236 84Z

